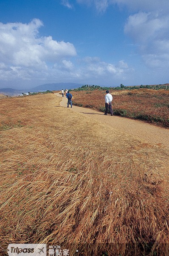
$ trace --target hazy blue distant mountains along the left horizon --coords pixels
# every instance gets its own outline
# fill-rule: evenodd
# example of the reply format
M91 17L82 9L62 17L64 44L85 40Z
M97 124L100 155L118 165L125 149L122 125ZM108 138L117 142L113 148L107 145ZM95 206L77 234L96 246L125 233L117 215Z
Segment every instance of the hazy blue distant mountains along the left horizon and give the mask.
M23 89L17 90L12 88L2 88L0 89L0 93L3 93L8 96L18 96L22 93L34 93L39 91L46 91L46 90L65 90L65 89L74 89L81 87L83 84L76 84L76 83L56 83L56 84L42 84L30 89Z

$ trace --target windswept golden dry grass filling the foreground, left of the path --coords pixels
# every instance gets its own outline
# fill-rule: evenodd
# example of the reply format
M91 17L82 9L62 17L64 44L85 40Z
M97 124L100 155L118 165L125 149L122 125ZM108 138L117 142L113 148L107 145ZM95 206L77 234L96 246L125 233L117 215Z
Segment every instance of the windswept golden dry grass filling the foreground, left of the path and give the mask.
M169 255L169 152L59 106L0 100L0 241Z

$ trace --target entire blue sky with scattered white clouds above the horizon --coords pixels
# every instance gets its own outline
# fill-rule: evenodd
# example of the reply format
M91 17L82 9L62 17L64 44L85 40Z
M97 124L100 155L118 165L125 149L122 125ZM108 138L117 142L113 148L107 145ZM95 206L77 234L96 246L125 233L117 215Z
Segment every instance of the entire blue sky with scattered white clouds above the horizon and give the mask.
M0 88L169 83L169 0L0 0Z

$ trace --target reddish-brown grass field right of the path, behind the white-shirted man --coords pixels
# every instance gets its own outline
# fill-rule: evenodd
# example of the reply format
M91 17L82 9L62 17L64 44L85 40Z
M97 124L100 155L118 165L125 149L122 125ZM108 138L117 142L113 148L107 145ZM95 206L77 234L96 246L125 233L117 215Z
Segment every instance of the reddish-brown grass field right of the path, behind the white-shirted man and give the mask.
M110 93L115 115L169 127L169 90L110 90ZM104 111L104 95L105 90L73 91L73 103Z

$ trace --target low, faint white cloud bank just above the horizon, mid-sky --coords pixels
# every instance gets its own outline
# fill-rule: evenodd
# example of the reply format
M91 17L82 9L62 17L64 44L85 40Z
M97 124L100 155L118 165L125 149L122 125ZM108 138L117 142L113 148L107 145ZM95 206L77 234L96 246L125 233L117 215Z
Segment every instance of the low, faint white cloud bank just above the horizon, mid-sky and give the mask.
M117 65L101 61L97 57L86 57L78 59L78 63L62 61L62 65L55 64L52 76L62 81L63 78L72 82L84 84L109 84L113 86L113 81L117 84L124 82L129 73L133 70L124 61L119 61Z

